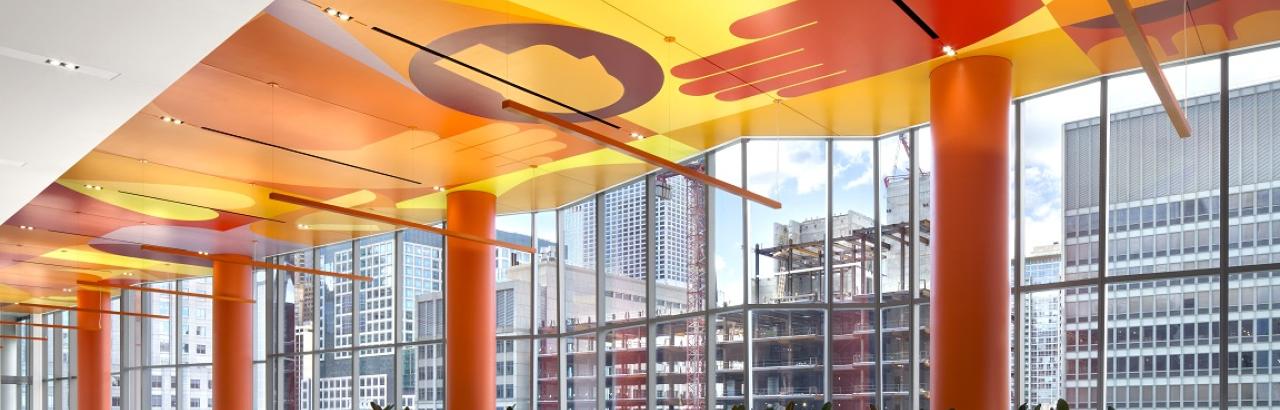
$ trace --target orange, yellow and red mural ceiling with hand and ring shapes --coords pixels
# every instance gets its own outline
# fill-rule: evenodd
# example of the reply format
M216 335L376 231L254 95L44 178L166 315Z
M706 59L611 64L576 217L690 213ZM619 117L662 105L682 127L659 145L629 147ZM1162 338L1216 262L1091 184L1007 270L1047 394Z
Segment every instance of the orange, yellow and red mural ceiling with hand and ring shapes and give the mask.
M273 191L434 222L449 190L497 193L511 213L652 170L503 99L676 160L741 136L923 123L943 45L1011 59L1016 95L1137 65L1106 0L906 0L938 40L879 0L317 4L278 0L0 227L0 301L209 274L138 243L264 256L392 229ZM1280 40L1280 0L1133 4L1162 60Z

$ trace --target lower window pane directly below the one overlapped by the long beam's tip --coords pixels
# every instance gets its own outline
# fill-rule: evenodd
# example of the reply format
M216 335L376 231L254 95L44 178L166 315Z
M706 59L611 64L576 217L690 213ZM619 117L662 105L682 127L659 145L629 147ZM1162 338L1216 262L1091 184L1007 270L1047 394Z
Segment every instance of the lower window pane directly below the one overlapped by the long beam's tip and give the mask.
M753 310L753 409L787 402L823 404L823 323L820 310Z

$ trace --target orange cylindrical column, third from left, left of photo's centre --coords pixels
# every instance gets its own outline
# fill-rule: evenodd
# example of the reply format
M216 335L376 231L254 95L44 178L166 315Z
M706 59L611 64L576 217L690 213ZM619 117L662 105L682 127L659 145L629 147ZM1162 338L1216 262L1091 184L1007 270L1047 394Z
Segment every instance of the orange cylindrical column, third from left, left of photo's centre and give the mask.
M449 192L449 231L494 237L497 197L477 191ZM447 410L494 409L493 246L449 238L444 263L444 405Z

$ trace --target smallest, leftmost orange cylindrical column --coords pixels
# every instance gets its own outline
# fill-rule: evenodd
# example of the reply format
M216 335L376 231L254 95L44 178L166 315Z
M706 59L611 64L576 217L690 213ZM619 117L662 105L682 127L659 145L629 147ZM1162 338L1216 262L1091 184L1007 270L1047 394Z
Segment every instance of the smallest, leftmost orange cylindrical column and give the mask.
M109 310L111 295L76 291L76 306ZM111 409L111 320L96 311L76 311L76 395L79 410Z

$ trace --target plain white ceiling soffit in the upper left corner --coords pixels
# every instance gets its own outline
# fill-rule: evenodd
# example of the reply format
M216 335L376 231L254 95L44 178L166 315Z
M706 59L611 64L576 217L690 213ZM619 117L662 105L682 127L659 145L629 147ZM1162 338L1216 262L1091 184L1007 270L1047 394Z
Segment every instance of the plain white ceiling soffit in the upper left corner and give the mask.
M0 220L268 4L0 0Z

